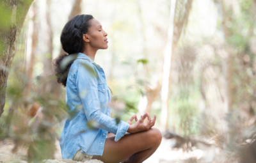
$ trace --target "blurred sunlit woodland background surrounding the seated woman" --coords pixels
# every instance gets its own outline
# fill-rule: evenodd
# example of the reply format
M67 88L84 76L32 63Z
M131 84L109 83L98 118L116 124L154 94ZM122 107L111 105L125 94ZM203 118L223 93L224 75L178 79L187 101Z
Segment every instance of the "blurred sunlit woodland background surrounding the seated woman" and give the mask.
M52 61L63 52L67 21L91 14L109 41L95 62L113 99L125 102L111 116L157 114L163 141L145 163L242 162L244 153L253 162L255 0L35 0L29 6L10 65L1 61L8 79L0 152L29 162L61 160L67 109Z

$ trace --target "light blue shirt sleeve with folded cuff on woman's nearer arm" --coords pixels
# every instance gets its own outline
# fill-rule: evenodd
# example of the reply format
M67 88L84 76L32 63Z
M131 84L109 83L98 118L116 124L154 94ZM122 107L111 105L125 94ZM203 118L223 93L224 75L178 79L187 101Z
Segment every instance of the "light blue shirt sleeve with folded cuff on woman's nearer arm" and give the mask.
M95 120L98 127L113 134L116 134L115 141L124 136L129 128L129 123L120 121L116 124L114 118L110 118L100 111L98 94L97 70L91 63L81 63L78 66L76 85L82 101L84 114L88 121Z

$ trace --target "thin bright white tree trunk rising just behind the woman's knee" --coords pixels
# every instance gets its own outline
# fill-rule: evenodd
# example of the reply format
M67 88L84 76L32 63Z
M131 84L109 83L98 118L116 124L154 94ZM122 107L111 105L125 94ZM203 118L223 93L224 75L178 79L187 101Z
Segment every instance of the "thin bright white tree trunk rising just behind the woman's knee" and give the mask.
M168 98L170 95L170 73L172 70L173 52L177 47L177 43L179 42L184 27L188 24L192 3L193 0L173 0L170 6L168 38L164 50L163 81L161 88L161 125L163 125L165 130L168 128Z

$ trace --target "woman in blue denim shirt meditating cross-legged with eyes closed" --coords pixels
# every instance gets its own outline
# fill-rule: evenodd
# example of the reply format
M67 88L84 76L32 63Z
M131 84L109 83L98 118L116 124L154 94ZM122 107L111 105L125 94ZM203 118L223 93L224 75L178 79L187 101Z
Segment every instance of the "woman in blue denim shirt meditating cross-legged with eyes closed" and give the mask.
M73 17L61 33L61 45L68 53L54 61L58 82L66 87L68 110L61 133L61 154L63 159L73 160L143 162L161 143L161 132L152 128L156 114L151 119L145 113L140 120L134 114L127 122L121 120L118 124L110 118L111 95L106 77L104 70L94 62L97 50L108 48L106 36L108 34L92 15ZM147 123L144 123L145 118L148 118ZM96 127L90 130L90 124Z

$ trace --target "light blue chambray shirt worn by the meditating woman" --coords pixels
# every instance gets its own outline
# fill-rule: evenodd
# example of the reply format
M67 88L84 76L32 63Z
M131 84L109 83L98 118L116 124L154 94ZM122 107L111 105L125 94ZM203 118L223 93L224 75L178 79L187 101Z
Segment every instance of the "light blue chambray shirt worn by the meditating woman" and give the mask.
M129 123L121 120L116 124L110 118L110 101L103 69L85 54L78 53L67 77L68 118L60 137L63 159L72 159L80 149L87 155L102 155L108 132L116 134L115 141L124 136ZM94 128L90 129L90 125Z

